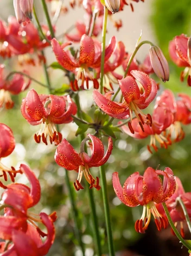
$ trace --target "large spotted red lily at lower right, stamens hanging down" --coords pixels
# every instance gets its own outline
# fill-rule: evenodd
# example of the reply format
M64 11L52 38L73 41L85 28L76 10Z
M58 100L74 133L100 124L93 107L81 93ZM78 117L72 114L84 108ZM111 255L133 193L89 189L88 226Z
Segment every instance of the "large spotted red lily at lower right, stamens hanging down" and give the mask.
M163 175L163 184L159 175ZM162 170L154 170L148 167L144 175L135 172L126 179L123 188L120 185L118 173L112 175L113 188L119 200L127 206L135 207L143 205L143 215L135 223L135 230L145 233L150 223L151 214L155 218L158 231L167 228L168 221L156 209L155 203L168 200L175 192L176 182L173 171L167 167Z

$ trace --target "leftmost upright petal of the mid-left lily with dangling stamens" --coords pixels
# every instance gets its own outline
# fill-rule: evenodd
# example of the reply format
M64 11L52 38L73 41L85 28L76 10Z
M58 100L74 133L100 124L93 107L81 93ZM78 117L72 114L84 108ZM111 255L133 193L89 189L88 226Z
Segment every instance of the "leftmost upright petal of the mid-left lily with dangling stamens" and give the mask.
M26 110L33 121L40 121L42 118L47 118L43 103L35 89L31 89L27 93Z

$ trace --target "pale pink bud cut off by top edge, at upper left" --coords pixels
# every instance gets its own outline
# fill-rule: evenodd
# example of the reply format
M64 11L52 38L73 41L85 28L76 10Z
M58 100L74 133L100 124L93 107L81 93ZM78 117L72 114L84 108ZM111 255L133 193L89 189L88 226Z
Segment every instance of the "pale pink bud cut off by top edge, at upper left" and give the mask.
M30 22L32 19L33 0L13 0L18 23Z

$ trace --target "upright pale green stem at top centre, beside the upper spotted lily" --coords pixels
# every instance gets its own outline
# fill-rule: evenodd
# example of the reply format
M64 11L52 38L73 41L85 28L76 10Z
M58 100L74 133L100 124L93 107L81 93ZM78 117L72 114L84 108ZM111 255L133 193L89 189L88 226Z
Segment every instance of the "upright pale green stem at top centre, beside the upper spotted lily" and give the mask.
M107 14L108 9L104 7L104 20L102 30L102 44L101 44L101 70L100 70L100 93L103 93L103 81L104 81L104 59L105 59L105 39L107 30Z

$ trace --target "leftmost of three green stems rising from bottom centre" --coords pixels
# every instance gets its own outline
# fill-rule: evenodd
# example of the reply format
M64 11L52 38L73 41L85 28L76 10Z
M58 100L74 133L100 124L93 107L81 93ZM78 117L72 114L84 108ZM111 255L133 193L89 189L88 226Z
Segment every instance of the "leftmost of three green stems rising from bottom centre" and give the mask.
M69 193L69 200L71 201L71 206L72 206L72 215L74 219L74 231L75 231L75 236L78 239L79 245L81 247L82 255L85 256L85 248L84 248L84 243L82 242L81 239L81 225L80 225L80 219L79 219L79 213L77 208L75 207L75 199L74 199L74 194L71 188L71 182L69 181L69 176L68 176L68 170L66 171L66 185L68 188L68 193Z

